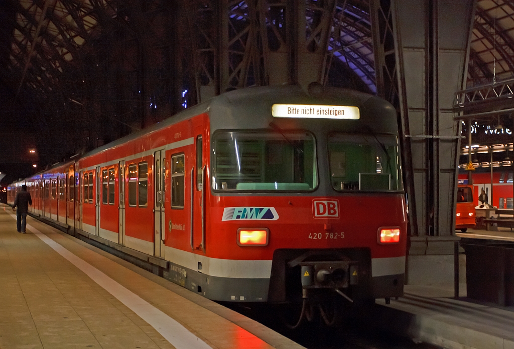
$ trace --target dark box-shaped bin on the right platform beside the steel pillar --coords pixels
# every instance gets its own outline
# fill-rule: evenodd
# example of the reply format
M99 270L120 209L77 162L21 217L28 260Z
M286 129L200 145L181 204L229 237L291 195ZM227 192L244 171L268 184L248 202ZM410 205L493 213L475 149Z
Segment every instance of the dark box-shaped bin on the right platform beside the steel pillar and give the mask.
M469 298L514 305L514 244L462 244Z

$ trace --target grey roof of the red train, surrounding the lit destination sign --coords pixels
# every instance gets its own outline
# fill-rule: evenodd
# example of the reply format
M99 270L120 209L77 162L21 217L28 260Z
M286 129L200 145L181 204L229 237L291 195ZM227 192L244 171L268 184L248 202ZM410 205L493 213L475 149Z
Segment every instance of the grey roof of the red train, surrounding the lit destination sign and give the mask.
M215 96L205 102L170 116L163 121L157 122L157 124L77 156L76 159L70 159L68 161L55 164L49 169L39 172L30 178L39 176L52 169L65 166L77 159L95 155L107 149L117 147L128 141L137 139L142 135L155 132L176 124L177 122L187 120L193 116L206 112L209 112L210 115L211 132L218 129L263 129L268 128L270 122L276 122L277 124L287 122L284 120L274 120L271 115L271 106L273 104L356 106L359 107L361 111L361 117L363 115L373 115L373 119L371 120L372 122L368 123L368 128L371 127L372 129L375 129L374 131L378 132L397 132L396 111L394 107L388 101L374 95L354 90L326 87L324 88L321 96L315 97L305 93L298 85L252 87L233 90ZM374 117L374 114L377 113L380 115L378 118ZM323 123L330 125L341 124L339 121L340 120L316 119L316 125ZM313 121L311 119L297 121L299 128L307 127L306 125L308 123L312 125ZM362 126L359 127L361 128L360 130L347 129L347 131L368 132L363 130ZM16 182L20 181L15 181L13 184Z

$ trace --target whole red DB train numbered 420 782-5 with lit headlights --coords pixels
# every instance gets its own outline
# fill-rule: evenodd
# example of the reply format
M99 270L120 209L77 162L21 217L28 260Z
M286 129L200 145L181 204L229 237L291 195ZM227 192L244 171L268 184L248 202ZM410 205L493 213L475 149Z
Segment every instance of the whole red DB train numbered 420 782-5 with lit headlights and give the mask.
M213 300L389 298L405 272L399 156L376 96L249 88L12 183L8 201L26 183L34 215Z

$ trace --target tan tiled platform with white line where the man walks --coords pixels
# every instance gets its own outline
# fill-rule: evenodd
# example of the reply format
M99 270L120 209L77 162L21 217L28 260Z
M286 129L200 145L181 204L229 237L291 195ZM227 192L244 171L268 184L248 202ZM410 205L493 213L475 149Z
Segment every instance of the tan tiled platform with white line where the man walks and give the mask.
M301 345L226 307L0 204L0 348Z

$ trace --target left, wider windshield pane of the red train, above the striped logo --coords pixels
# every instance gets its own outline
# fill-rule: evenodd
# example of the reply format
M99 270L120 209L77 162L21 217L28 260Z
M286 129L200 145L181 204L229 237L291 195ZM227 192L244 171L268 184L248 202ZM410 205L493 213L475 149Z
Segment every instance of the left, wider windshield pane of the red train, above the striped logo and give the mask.
M309 191L317 186L314 137L306 132L217 132L214 190Z

